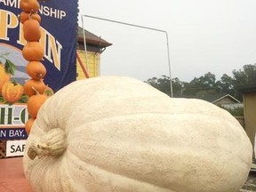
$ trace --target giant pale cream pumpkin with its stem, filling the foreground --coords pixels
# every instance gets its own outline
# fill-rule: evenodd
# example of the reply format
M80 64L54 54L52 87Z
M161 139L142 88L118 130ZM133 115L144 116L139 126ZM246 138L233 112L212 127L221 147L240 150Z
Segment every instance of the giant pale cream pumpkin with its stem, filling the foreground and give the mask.
M237 192L251 162L251 142L227 111L116 76L46 100L23 160L35 192Z

